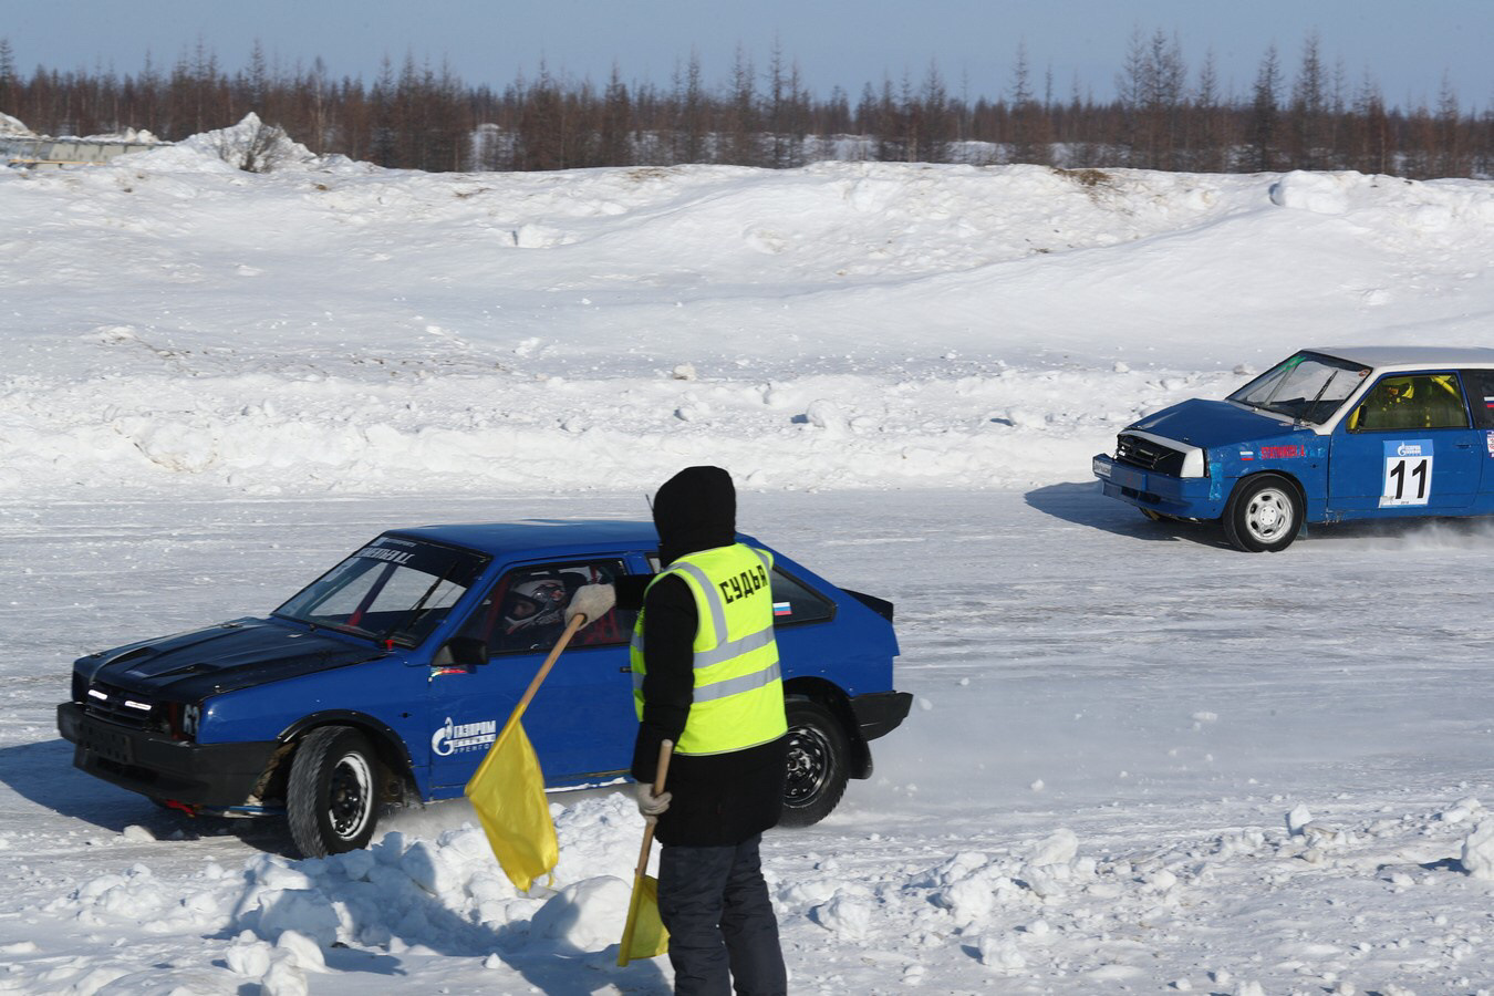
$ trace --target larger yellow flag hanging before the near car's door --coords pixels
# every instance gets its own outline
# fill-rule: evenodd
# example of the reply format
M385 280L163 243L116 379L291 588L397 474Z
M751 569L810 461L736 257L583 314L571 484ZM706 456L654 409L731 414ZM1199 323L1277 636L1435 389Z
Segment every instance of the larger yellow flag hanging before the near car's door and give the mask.
M499 736L468 782L487 842L514 888L529 891L536 878L556 866L560 845L545 799L545 776L521 723Z

